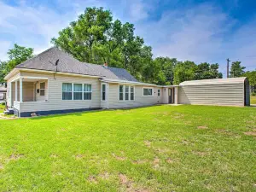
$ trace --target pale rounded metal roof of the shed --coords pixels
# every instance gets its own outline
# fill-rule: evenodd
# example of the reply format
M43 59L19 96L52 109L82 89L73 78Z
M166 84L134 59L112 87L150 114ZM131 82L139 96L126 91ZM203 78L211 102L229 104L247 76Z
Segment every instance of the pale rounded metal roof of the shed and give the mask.
M245 77L241 78L229 78L229 79L202 79L202 80L192 80L184 81L179 85L202 85L202 84L241 84L245 81Z

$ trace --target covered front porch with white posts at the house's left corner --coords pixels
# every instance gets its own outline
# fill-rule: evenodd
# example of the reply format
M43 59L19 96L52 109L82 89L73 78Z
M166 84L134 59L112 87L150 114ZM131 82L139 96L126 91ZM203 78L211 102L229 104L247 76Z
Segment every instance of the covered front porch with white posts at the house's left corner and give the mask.
M18 77L12 80L9 106L20 110L20 103L48 102L48 84L48 79L41 77Z

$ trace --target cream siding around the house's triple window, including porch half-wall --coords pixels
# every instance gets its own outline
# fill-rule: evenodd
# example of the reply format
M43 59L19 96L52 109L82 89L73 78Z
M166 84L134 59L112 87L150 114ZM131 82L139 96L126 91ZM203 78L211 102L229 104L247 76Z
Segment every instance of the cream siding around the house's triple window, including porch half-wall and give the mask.
M22 72L22 76L48 78L49 99L47 102L22 102L20 112L36 112L49 110L65 110L80 108L100 108L100 82L94 78L84 78L68 75L55 75L50 73L29 73ZM91 84L91 100L72 101L62 100L62 83Z

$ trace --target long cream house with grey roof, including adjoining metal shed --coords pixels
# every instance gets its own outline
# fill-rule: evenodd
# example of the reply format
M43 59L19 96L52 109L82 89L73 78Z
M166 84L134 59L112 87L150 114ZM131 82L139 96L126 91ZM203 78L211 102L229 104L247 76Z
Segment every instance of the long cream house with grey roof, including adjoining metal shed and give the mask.
M167 103L249 105L246 78L148 84L125 69L80 62L57 48L21 63L5 79L8 108L20 117Z

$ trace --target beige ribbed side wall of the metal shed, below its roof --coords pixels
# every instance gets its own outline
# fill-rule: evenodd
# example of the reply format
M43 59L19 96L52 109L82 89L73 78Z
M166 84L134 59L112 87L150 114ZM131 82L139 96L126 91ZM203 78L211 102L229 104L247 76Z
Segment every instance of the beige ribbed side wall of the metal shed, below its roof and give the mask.
M203 84L179 87L179 103L200 105L244 105L244 84Z

